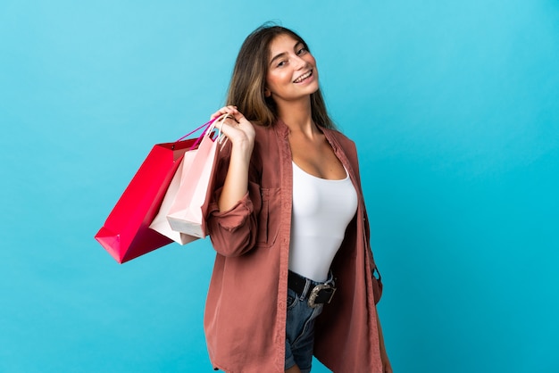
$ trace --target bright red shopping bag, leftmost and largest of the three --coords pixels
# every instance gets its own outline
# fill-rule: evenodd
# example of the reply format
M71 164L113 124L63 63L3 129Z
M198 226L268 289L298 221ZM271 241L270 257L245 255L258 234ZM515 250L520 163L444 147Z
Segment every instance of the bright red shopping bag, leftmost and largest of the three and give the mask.
M209 126L212 121L197 128ZM184 137L182 137L184 138ZM119 263L149 253L172 240L149 228L184 153L200 138L154 145L95 238Z

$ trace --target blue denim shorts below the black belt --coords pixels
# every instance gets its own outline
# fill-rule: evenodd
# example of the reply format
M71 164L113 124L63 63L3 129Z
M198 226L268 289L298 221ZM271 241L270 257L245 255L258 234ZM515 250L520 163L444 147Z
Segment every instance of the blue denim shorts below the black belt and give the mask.
M331 281L331 275L329 281ZM297 365L302 373L311 371L314 347L314 320L321 314L324 304L309 307L308 294L319 283L307 279L303 294L288 289L288 317L286 325L285 369Z

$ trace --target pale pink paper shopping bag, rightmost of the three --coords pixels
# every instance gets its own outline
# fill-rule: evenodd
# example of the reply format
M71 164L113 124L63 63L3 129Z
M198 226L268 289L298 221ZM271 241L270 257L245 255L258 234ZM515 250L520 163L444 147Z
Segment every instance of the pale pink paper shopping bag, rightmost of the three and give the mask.
M202 137L189 169L183 171L179 191L167 214L173 230L200 238L207 236L205 215L213 191L213 170L219 145L226 138L221 131L216 135L214 124Z

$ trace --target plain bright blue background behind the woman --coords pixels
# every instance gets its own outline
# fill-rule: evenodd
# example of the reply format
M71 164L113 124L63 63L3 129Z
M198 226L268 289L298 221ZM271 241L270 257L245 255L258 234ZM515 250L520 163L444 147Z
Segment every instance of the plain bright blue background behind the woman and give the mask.
M212 371L209 240L119 265L93 236L264 21L357 143L395 371L559 371L552 0L4 0L0 371Z

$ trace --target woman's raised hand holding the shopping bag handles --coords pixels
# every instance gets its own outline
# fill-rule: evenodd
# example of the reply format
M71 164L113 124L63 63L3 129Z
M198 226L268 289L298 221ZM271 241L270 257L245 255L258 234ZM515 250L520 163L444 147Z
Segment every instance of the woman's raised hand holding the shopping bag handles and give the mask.
M221 132L229 138L233 148L240 148L246 153L252 153L254 147L254 126L246 120L245 116L238 111L237 106L223 106L217 112L212 114L212 119L220 117L223 114L229 114L225 120L215 122L215 127L221 129Z

